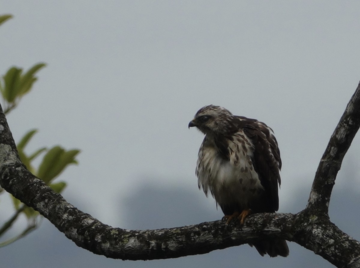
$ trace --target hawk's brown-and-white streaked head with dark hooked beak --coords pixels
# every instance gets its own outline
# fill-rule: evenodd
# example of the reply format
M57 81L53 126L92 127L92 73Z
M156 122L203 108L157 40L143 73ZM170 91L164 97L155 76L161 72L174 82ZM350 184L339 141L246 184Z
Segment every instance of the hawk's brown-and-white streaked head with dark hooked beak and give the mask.
M227 135L233 132L234 116L223 107L208 105L197 111L190 127L197 127L205 135Z

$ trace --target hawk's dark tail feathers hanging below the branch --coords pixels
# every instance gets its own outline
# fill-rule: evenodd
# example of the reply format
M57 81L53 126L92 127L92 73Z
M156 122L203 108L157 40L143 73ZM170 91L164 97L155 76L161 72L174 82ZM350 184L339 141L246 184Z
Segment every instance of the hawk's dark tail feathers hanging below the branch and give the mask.
M269 254L270 257L276 257L278 255L286 257L289 255L288 244L282 239L259 241L249 245L254 246L261 256Z

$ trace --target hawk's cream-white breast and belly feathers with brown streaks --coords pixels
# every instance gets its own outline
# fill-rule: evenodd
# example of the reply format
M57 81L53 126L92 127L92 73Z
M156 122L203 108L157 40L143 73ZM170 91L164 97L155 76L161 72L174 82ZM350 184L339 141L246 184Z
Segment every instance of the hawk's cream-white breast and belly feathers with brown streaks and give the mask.
M220 156L211 137L204 139L199 150L199 189L203 188L206 195L210 191L219 205L237 203L247 208L249 201L264 190L251 161L252 144L242 134L229 141L230 161Z

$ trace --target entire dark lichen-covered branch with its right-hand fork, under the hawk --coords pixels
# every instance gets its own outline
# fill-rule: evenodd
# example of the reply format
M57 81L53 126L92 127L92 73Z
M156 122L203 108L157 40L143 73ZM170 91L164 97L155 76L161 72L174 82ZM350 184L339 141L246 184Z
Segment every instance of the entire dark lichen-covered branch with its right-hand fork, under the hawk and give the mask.
M360 86L320 161L306 209L297 214L250 215L242 228L222 221L158 230L125 230L101 223L26 170L1 106L0 185L48 218L76 245L109 258L176 258L276 237L296 242L337 267L360 267L360 243L331 223L327 214L336 174L359 125Z

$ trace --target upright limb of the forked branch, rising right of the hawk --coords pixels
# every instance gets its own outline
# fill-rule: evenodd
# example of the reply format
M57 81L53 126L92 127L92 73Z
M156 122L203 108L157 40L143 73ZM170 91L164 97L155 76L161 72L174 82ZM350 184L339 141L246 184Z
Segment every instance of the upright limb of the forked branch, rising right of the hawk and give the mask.
M360 83L346 106L329 144L320 160L307 209L314 214L328 214L330 195L342 159L360 127Z

